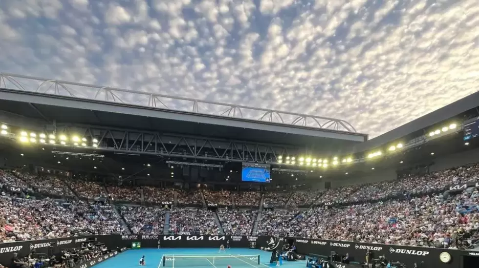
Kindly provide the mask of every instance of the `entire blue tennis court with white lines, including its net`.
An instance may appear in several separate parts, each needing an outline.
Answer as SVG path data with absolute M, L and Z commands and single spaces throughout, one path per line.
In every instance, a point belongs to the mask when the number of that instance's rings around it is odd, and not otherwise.
M 227 249 L 226 253 L 218 253 L 218 248 L 130 249 L 93 267 L 139 268 L 141 267 L 139 260 L 142 255 L 145 255 L 146 266 L 144 268 L 226 268 L 228 265 L 231 265 L 232 268 L 274 267 L 269 264 L 271 252 L 248 248 L 231 248 Z M 165 258 L 165 256 L 167 257 Z M 258 256 L 260 264 L 255 259 Z M 288 268 L 305 268 L 305 265 L 305 261 L 283 262 L 283 266 Z

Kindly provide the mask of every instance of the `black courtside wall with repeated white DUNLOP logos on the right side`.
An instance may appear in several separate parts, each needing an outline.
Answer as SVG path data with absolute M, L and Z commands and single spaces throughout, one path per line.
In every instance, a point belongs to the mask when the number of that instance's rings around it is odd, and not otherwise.
M 460 268 L 462 256 L 470 252 L 435 247 L 404 247 L 306 238 L 287 238 L 287 240 L 293 241 L 297 252 L 301 254 L 330 256 L 331 251 L 334 251 L 338 258 L 349 254 L 350 261 L 364 263 L 366 253 L 370 250 L 373 259 L 384 255 L 387 260 L 406 264 L 407 267 L 414 267 L 416 263 L 419 267 Z

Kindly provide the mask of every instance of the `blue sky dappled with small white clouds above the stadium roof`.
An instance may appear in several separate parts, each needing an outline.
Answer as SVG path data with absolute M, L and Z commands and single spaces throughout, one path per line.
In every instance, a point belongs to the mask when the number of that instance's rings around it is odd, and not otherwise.
M 0 72 L 334 117 L 370 137 L 475 92 L 478 42 L 477 0 L 0 0 Z

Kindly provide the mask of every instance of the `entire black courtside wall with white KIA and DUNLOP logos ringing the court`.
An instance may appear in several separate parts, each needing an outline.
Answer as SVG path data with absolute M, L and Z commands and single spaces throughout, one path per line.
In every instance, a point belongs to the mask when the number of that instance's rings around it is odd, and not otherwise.
M 0 263 L 9 266 L 13 253 L 18 253 L 20 257 L 28 255 L 31 250 L 36 253 L 45 254 L 49 257 L 51 254 L 59 254 L 62 249 L 81 247 L 82 243 L 95 241 L 96 243 L 105 243 L 110 249 L 110 253 L 96 258 L 93 262 L 87 262 L 78 268 L 89 268 L 99 261 L 104 261 L 113 257 L 114 252 L 124 251 L 133 245 L 141 248 L 219 248 L 220 245 L 226 245 L 226 241 L 232 248 L 259 248 L 263 250 L 273 250 L 281 242 L 294 243 L 297 252 L 300 254 L 318 254 L 329 256 L 331 251 L 338 255 L 349 254 L 350 260 L 355 262 L 364 262 L 366 251 L 370 249 L 373 252 L 373 258 L 385 255 L 388 260 L 400 261 L 413 267 L 417 263 L 421 267 L 434 268 L 463 268 L 463 256 L 474 256 L 479 258 L 477 251 L 451 250 L 430 247 L 403 247 L 383 244 L 366 244 L 344 241 L 317 240 L 307 238 L 272 238 L 269 236 L 210 236 L 210 235 L 99 235 L 70 237 L 62 239 L 21 241 L 14 243 L 0 244 Z M 273 241 L 274 243 L 272 243 Z M 451 260 L 444 263 L 440 260 L 441 254 L 449 254 Z

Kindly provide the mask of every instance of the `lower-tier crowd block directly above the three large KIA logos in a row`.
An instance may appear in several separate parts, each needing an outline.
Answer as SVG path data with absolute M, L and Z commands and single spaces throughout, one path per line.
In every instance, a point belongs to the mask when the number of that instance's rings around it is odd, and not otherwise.
M 217 235 L 220 229 L 211 210 L 200 208 L 172 208 L 170 233 L 185 235 Z

